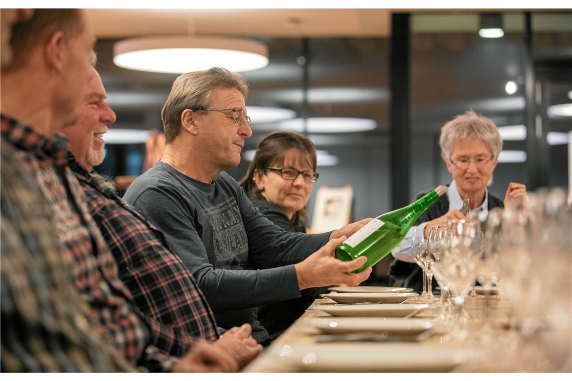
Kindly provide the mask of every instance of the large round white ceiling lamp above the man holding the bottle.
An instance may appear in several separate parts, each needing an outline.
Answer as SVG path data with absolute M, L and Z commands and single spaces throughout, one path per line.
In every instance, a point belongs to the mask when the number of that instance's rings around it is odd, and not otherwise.
M 263 43 L 218 37 L 141 37 L 113 44 L 113 62 L 120 67 L 154 73 L 188 73 L 220 66 L 249 71 L 268 65 Z

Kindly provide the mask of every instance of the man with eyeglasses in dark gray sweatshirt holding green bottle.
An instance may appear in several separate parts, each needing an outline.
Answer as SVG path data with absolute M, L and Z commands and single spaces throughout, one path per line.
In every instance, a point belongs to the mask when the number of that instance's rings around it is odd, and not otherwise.
M 248 85 L 215 67 L 180 75 L 161 112 L 165 152 L 124 198 L 150 220 L 193 273 L 223 328 L 249 323 L 268 344 L 257 306 L 331 284 L 358 285 L 371 268 L 341 262 L 335 247 L 370 219 L 319 235 L 285 232 L 252 205 L 225 170 L 240 163 L 252 136 Z

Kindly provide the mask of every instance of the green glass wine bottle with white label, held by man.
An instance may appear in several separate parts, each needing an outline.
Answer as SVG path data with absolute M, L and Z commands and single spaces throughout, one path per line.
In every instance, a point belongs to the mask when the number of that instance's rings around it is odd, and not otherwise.
M 374 266 L 398 246 L 415 220 L 446 192 L 447 187 L 440 185 L 414 203 L 374 218 L 336 247 L 336 258 L 353 260 L 366 256 L 367 262 L 354 272 Z

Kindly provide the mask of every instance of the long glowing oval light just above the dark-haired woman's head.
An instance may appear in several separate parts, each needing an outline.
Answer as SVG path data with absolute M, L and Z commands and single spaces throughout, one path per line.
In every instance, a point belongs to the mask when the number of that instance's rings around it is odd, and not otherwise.
M 306 132 L 312 134 L 356 133 L 358 131 L 374 130 L 377 123 L 365 118 L 308 118 Z M 304 119 L 297 118 L 278 123 L 279 129 L 304 130 Z

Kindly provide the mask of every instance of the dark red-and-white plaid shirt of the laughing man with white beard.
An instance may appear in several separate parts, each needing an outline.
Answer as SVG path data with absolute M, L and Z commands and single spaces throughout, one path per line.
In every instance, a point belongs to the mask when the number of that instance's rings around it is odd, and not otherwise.
M 80 181 L 89 211 L 137 307 L 176 328 L 181 336 L 216 340 L 215 316 L 190 271 L 169 250 L 162 233 L 122 198 L 105 191 L 100 185 L 104 178 L 92 177 L 71 153 L 68 165 Z

